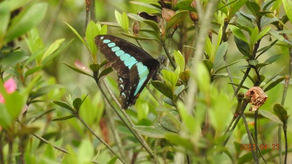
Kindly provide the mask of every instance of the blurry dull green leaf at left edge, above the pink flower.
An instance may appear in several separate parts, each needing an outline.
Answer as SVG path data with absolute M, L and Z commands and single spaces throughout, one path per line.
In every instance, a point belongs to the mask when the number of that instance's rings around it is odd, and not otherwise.
M 15 51 L 11 54 L 8 54 L 0 61 L 0 65 L 2 66 L 1 71 L 5 71 L 9 67 L 14 66 L 15 64 L 22 62 L 27 58 L 28 56 L 26 56 L 23 51 Z

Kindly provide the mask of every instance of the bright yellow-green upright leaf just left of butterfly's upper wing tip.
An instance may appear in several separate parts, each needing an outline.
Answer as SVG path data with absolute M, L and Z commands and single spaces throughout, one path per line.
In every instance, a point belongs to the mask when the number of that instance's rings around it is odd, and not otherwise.
M 91 50 L 90 52 L 93 58 L 94 56 L 96 56 L 96 53 L 97 53 L 97 47 L 94 43 L 94 37 L 97 35 L 100 35 L 99 29 L 97 25 L 91 20 L 86 28 L 85 37 L 86 37 L 86 42 Z

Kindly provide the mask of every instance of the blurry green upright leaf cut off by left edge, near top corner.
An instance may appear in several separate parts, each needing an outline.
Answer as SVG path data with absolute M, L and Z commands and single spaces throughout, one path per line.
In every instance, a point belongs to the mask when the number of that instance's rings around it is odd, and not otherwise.
M 10 19 L 10 12 L 9 9 L 5 6 L 0 5 L 0 47 L 2 47 L 2 39 L 4 37 L 4 34 L 7 30 L 8 23 Z

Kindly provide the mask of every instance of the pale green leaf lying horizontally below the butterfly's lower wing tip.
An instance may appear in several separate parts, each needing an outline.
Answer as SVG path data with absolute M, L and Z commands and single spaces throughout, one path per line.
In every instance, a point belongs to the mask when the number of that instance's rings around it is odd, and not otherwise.
M 134 126 L 133 129 L 142 135 L 145 135 L 147 137 L 152 137 L 152 138 L 164 138 L 164 134 L 166 132 L 169 132 L 159 126 L 158 127 Z

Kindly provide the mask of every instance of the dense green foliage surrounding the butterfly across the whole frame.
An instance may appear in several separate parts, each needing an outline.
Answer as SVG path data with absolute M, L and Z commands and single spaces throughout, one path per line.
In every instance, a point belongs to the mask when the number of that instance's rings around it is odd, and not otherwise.
M 207 28 L 209 37 L 205 34 L 202 43 L 204 58 L 200 58 L 195 44 L 195 40 L 200 40 L 199 29 L 204 28 L 202 20 L 196 21 L 199 10 L 191 5 L 192 0 L 178 0 L 181 7 L 176 8 L 173 5 L 176 0 L 161 1 L 177 15 L 173 22 L 164 20 L 164 26 L 157 27 L 158 23 L 153 25 L 136 15 L 144 11 L 162 18 L 162 11 L 157 8 L 159 3 L 152 0 L 95 0 L 94 3 L 91 0 L 94 7 L 91 6 L 86 27 L 83 0 L 0 1 L 0 93 L 5 98 L 5 103 L 0 104 L 0 164 L 291 163 L 290 84 L 284 98 L 285 109 L 280 104 L 285 79 L 292 67 L 289 65 L 292 2 L 218 1 L 212 11 L 212 16 L 215 14 L 211 26 Z M 216 0 L 196 1 L 207 12 L 208 4 Z M 12 13 L 15 10 L 20 14 Z M 262 18 L 264 25 L 260 29 L 256 26 L 258 18 Z M 224 19 L 229 22 L 226 33 Z M 140 38 L 132 33 L 135 20 L 140 22 Z M 178 29 L 173 29 L 178 22 Z M 91 42 L 97 34 L 141 44 L 155 58 L 171 52 L 177 69 L 165 62 L 161 71 L 165 83 L 152 81 L 134 107 L 120 110 L 111 96 L 119 96 L 116 74 L 106 68 L 104 55 Z M 221 42 L 224 35 L 226 42 Z M 258 40 L 256 50 L 264 53 L 257 53 L 257 58 L 253 50 Z M 231 64 L 228 69 L 232 76 L 226 71 L 227 64 Z M 240 95 L 233 98 L 229 77 L 237 88 L 248 68 L 251 71 L 239 94 L 244 97 L 242 92 L 259 86 L 268 99 L 256 112 L 249 113 L 248 105 L 244 119 L 227 133 L 228 124 L 236 119 L 233 117 L 236 109 L 240 109 L 237 107 L 247 104 L 247 99 L 239 100 Z M 257 76 L 255 68 L 261 68 L 258 70 L 261 76 Z M 96 78 L 102 73 L 107 76 Z M 10 77 L 17 82 L 18 90 L 7 94 L 3 83 Z M 195 96 L 189 96 L 192 91 L 196 91 Z M 19 114 L 25 104 L 27 111 Z M 249 138 L 251 133 L 256 136 L 259 148 L 260 144 L 268 148 L 279 144 L 281 152 L 263 148 L 257 152 L 240 150 L 240 144 L 255 144 Z

